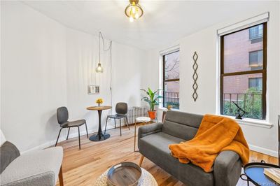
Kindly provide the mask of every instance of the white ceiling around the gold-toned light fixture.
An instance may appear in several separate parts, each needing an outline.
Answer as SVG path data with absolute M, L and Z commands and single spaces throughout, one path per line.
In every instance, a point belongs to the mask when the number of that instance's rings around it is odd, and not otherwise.
M 24 1 L 66 27 L 143 50 L 170 45 L 179 38 L 254 10 L 265 1 L 144 1 L 144 15 L 130 22 L 129 1 Z

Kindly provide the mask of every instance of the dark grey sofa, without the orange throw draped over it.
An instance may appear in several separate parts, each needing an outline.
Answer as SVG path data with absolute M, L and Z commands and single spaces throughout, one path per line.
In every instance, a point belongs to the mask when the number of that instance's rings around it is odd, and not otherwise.
M 221 152 L 214 162 L 214 171 L 210 173 L 191 163 L 181 164 L 170 154 L 168 145 L 193 138 L 202 117 L 203 115 L 167 111 L 163 124 L 139 127 L 139 152 L 186 185 L 236 185 L 241 173 L 241 159 L 236 152 Z

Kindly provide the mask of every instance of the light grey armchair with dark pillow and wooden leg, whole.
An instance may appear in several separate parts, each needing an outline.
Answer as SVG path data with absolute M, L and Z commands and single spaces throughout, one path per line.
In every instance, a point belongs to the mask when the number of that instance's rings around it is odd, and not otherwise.
M 0 185 L 50 186 L 56 185 L 59 178 L 59 185 L 63 186 L 62 147 L 32 150 L 20 155 L 13 143 L 5 138 L 3 141 Z

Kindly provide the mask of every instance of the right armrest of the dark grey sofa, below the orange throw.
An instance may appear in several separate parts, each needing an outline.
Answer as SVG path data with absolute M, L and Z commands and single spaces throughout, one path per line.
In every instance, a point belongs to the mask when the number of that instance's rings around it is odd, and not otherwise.
M 221 152 L 214 162 L 214 183 L 220 185 L 236 185 L 241 173 L 241 159 L 231 150 Z

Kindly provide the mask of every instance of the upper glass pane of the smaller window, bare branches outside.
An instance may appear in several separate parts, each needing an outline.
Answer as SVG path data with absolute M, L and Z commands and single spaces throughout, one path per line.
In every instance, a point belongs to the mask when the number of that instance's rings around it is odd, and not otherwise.
M 165 55 L 165 80 L 179 79 L 179 51 Z

